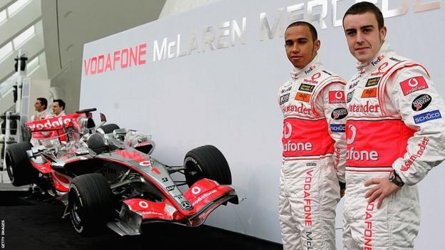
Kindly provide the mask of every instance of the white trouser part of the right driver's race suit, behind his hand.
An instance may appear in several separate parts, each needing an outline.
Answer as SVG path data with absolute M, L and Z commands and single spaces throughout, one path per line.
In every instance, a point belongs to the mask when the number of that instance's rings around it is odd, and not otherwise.
M 351 175 L 346 172 L 346 175 Z M 354 174 L 352 174 L 354 175 Z M 367 179 L 388 175 L 367 175 L 362 179 L 349 178 L 344 195 L 343 249 L 344 250 L 409 250 L 414 249 L 414 239 L 420 226 L 420 205 L 417 186 L 404 185 L 389 195 L 377 209 L 377 201 L 368 204 L 366 189 L 352 189 L 363 185 Z M 348 179 L 348 176 L 347 176 Z M 400 209 L 404 208 L 403 211 Z M 370 245 L 370 246 L 367 246 Z

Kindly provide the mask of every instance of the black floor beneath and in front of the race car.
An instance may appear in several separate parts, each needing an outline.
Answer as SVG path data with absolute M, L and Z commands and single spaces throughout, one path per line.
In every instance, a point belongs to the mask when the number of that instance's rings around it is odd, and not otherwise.
M 211 226 L 150 224 L 143 227 L 140 236 L 121 237 L 105 229 L 86 238 L 74 231 L 68 219 L 61 219 L 62 213 L 59 202 L 26 198 L 24 192 L 0 191 L 4 229 L 0 249 L 282 249 L 280 244 Z

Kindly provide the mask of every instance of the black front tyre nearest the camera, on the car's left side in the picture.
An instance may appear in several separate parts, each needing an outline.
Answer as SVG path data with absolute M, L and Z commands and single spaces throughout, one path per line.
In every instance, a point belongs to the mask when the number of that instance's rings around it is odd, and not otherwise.
M 93 236 L 113 219 L 114 199 L 103 175 L 74 177 L 69 187 L 68 212 L 74 229 L 82 236 Z

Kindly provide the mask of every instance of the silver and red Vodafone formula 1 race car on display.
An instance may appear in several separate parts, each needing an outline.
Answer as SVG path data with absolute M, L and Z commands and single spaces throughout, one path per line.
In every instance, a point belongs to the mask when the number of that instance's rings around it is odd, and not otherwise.
M 12 184 L 35 184 L 60 199 L 78 233 L 93 235 L 105 224 L 121 236 L 150 222 L 199 226 L 221 204 L 238 203 L 216 147 L 190 150 L 182 166 L 164 165 L 151 156 L 151 135 L 104 125 L 103 114 L 96 126 L 95 110 L 26 123 L 31 142 L 6 149 Z

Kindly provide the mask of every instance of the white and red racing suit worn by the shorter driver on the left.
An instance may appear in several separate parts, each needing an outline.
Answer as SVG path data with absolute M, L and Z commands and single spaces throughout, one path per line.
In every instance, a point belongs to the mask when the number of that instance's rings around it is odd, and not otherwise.
M 318 56 L 279 90 L 284 115 L 280 227 L 285 250 L 335 249 L 335 207 L 344 184 L 344 80 Z

